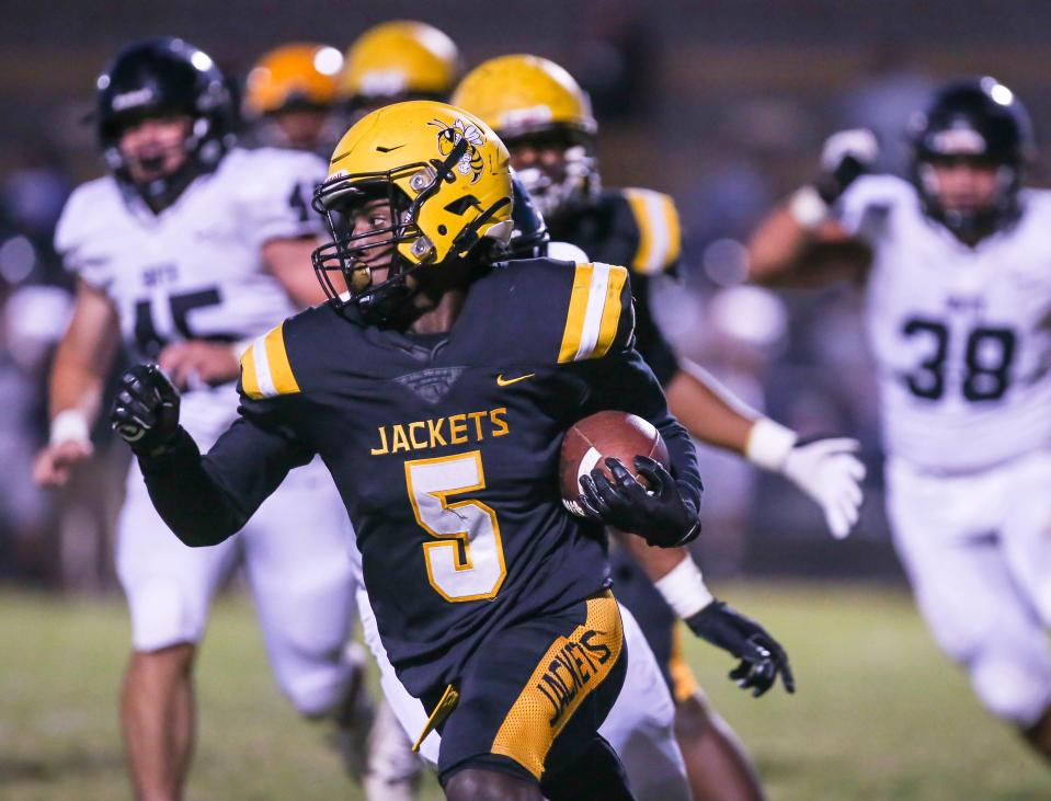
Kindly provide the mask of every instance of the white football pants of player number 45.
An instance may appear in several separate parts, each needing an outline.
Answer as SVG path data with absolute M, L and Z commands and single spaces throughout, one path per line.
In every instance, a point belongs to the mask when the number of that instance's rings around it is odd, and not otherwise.
M 353 670 L 343 659 L 354 616 L 345 520 L 332 478 L 315 459 L 293 470 L 239 534 L 190 548 L 153 510 L 133 461 L 116 558 L 134 649 L 198 642 L 212 596 L 240 559 L 277 684 L 302 714 L 328 712 Z

